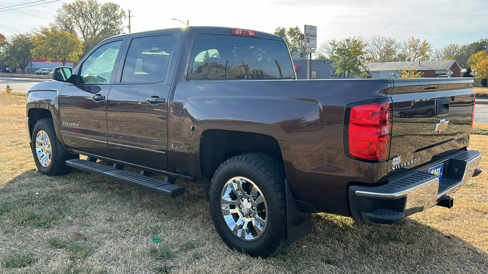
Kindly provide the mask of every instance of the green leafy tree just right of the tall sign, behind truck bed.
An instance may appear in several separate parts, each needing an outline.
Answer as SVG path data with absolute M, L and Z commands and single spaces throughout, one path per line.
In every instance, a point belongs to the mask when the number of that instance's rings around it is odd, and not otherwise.
M 366 43 L 356 37 L 341 40 L 331 40 L 332 66 L 337 68 L 335 75 L 349 75 L 367 77 Z

